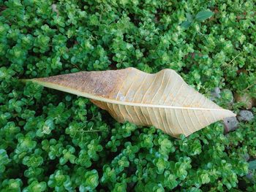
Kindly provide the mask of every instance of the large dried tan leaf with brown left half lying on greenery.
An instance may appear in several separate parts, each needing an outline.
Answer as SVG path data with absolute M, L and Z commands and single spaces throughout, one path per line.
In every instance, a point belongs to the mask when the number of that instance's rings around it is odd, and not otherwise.
M 85 96 L 119 122 L 155 126 L 173 137 L 188 136 L 217 120 L 236 116 L 189 87 L 172 69 L 156 74 L 135 68 L 78 72 L 31 81 Z

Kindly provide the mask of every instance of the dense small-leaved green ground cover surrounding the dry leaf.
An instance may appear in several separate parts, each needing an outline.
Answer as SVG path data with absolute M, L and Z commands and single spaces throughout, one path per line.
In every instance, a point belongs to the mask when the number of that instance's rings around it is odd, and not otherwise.
M 210 19 L 181 26 L 206 9 Z M 174 139 L 18 81 L 170 68 L 206 96 L 219 87 L 255 97 L 255 19 L 252 0 L 0 0 L 0 191 L 256 191 L 255 119 Z M 243 108 L 221 96 L 222 107 Z

